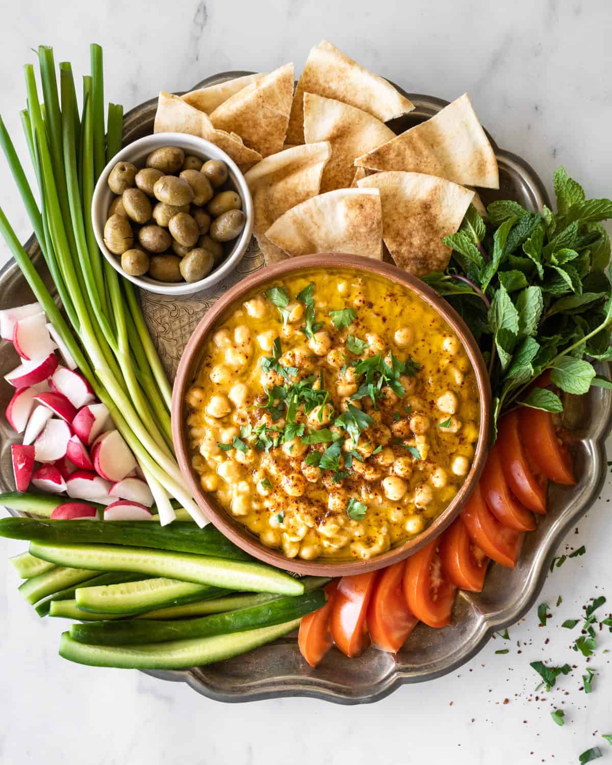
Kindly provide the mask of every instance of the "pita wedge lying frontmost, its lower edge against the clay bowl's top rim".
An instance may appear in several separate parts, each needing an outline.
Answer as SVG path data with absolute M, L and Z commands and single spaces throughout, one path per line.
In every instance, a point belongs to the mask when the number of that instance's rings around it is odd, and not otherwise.
M 265 232 L 288 256 L 347 252 L 382 259 L 378 189 L 337 189 L 291 207 Z

